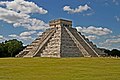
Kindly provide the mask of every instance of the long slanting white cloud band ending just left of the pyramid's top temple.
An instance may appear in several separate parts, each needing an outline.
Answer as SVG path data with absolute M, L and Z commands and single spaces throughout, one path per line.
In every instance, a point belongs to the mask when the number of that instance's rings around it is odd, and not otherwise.
M 42 20 L 30 18 L 29 15 L 17 13 L 15 11 L 7 10 L 0 7 L 0 20 L 13 24 L 14 27 L 23 26 L 28 30 L 45 30 L 49 27 Z

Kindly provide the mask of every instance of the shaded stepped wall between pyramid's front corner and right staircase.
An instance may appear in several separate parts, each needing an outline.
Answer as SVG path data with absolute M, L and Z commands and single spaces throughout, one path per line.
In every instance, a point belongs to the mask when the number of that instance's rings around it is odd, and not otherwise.
M 61 57 L 83 57 L 73 37 L 65 27 L 61 28 Z

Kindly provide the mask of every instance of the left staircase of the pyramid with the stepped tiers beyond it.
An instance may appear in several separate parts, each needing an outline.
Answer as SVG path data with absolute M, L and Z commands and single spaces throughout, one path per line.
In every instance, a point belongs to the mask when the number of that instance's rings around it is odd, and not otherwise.
M 35 39 L 30 45 L 28 45 L 23 51 L 21 51 L 16 57 L 34 57 L 38 51 L 44 47 L 44 44 L 52 36 L 55 29 L 48 29 L 41 36 Z M 40 56 L 40 55 L 39 55 Z

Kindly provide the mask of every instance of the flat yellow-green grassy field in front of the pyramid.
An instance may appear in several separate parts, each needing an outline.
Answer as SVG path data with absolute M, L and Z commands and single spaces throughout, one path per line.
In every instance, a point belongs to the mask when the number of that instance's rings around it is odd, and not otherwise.
M 1 58 L 0 80 L 120 80 L 120 58 Z

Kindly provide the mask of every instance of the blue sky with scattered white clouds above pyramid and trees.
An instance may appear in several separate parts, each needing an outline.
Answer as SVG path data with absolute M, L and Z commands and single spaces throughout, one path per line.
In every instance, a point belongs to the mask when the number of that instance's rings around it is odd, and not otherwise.
M 120 0 L 0 0 L 0 42 L 30 44 L 57 18 L 72 20 L 99 47 L 120 49 Z

